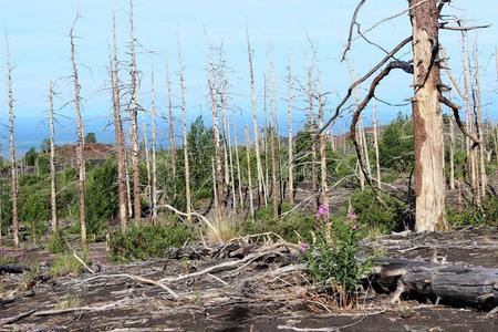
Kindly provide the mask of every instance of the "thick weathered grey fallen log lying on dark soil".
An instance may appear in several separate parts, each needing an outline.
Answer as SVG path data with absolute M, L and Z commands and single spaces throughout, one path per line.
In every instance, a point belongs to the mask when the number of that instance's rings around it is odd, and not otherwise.
M 387 258 L 375 269 L 372 286 L 394 290 L 392 303 L 407 297 L 483 310 L 498 305 L 498 269 Z

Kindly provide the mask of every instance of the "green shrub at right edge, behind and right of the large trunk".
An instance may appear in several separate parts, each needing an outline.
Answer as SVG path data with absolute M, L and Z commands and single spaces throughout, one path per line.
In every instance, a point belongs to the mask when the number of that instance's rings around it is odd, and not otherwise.
M 498 197 L 487 196 L 480 208 L 468 204 L 461 212 L 448 209 L 448 221 L 454 226 L 498 226 Z

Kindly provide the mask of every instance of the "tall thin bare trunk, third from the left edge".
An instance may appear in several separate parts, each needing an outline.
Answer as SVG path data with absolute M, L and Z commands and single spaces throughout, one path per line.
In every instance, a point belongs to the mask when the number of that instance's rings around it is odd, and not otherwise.
M 75 60 L 75 44 L 74 44 L 74 25 L 76 24 L 76 19 L 71 27 L 70 38 L 71 38 L 71 63 L 73 66 L 73 84 L 74 84 L 74 108 L 76 110 L 77 118 L 77 168 L 80 173 L 79 177 L 79 193 L 80 193 L 80 230 L 81 230 L 81 242 L 83 247 L 86 247 L 86 206 L 85 206 L 85 160 L 83 158 L 84 144 L 83 138 L 83 117 L 81 112 L 81 86 L 77 74 L 77 66 Z

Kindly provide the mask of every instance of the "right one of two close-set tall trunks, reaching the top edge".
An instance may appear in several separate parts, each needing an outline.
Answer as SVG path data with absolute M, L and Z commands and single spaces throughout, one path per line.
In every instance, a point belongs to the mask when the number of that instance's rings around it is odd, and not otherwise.
M 133 0 L 129 0 L 129 75 L 131 75 L 131 101 L 129 111 L 132 117 L 132 172 L 133 172 L 133 211 L 135 225 L 138 225 L 142 218 L 141 204 L 141 172 L 139 172 L 139 147 L 138 147 L 138 105 L 136 102 L 137 73 L 136 73 L 136 53 L 135 35 L 133 25 Z

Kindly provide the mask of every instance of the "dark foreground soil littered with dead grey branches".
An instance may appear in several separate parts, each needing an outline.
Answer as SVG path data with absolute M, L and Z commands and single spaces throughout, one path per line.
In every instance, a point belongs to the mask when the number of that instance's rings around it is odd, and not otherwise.
M 498 262 L 497 229 L 489 228 L 394 235 L 365 246 L 382 248 L 390 257 L 437 257 L 439 260 L 446 257 L 452 263 L 488 268 L 497 268 Z M 90 251 L 91 259 L 100 262 L 91 266 L 100 270 L 95 274 L 85 272 L 54 280 L 44 278 L 42 268 L 31 289 L 19 288 L 23 274 L 0 276 L 0 299 L 3 298 L 0 319 L 31 310 L 80 308 L 43 317 L 32 314 L 0 326 L 0 331 L 498 331 L 498 314 L 485 318 L 486 312 L 475 309 L 417 301 L 391 305 L 388 295 L 361 294 L 357 305 L 349 311 L 318 304 L 319 299 L 307 291 L 301 272 L 260 278 L 268 271 L 299 262 L 299 255 L 287 250 L 255 260 L 238 272 L 234 269 L 214 271 L 214 277 L 204 274 L 165 282 L 179 294 L 178 300 L 156 286 L 124 277 L 103 277 L 129 273 L 159 280 L 237 259 L 229 257 L 229 253 L 237 256 L 237 246 L 224 250 L 226 255 L 218 257 L 195 258 L 193 250 L 185 249 L 172 255 L 175 259 L 115 266 L 106 263 L 105 247 L 98 243 Z M 21 261 L 51 261 L 46 252 L 19 256 Z M 6 294 L 14 289 L 18 290 L 10 297 L 10 302 L 6 301 L 9 298 Z M 103 305 L 107 307 L 103 309 Z M 95 311 L 95 308 L 101 310 Z

